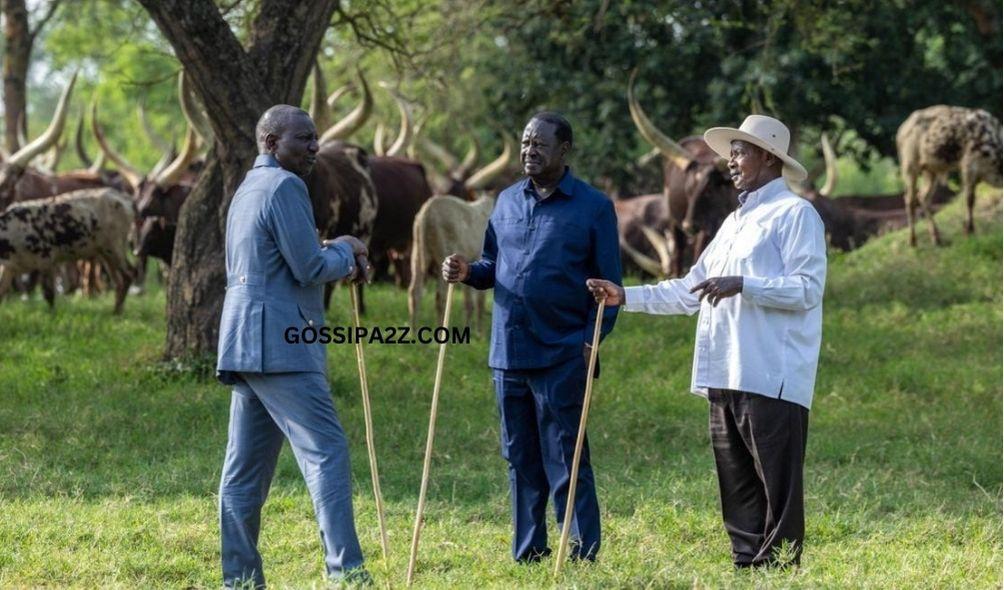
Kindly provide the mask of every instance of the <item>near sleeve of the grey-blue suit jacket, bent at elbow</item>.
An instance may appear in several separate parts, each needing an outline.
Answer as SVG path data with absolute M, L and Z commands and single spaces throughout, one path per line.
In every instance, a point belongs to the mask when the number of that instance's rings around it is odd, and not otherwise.
M 347 244 L 321 248 L 303 181 L 282 180 L 264 211 L 272 239 L 301 286 L 335 281 L 353 272 L 354 257 Z

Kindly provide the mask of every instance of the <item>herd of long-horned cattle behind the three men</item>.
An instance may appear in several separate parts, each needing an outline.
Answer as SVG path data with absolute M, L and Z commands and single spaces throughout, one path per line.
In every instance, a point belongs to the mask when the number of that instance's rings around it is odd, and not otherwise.
M 75 76 L 66 85 L 46 130 L 3 154 L 0 164 L 0 296 L 19 279 L 34 277 L 53 305 L 57 283 L 63 290 L 86 287 L 106 277 L 114 286 L 114 311 L 119 312 L 131 284 L 142 287 L 149 257 L 170 269 L 175 233 L 186 198 L 203 168 L 200 156 L 213 141 L 208 119 L 188 88 L 184 74 L 179 100 L 187 119 L 183 145 L 147 131 L 163 151 L 160 162 L 142 173 L 107 140 L 97 105 L 90 108 L 90 128 L 100 154 L 93 161 L 83 149 L 82 120 L 77 125 L 76 151 L 86 170 L 56 174 L 59 137 Z M 383 85 L 383 84 L 382 84 Z M 463 159 L 454 157 L 421 134 L 412 105 L 391 87 L 401 114 L 397 136 L 376 126 L 372 154 L 351 143 L 371 118 L 373 97 L 361 72 L 357 84 L 330 95 L 315 68 L 310 98 L 311 116 L 318 124 L 320 151 L 305 179 L 319 238 L 342 234 L 369 245 L 378 280 L 393 279 L 409 289 L 413 325 L 420 313 L 424 279 L 437 273 L 439 262 L 459 252 L 476 258 L 497 189 L 515 179 L 512 142 L 503 135 L 502 154 L 478 169 L 480 150 L 472 140 Z M 341 96 L 358 95 L 358 104 L 332 121 L 332 105 Z M 646 114 L 635 88 L 628 84 L 628 105 L 638 130 L 662 161 L 660 193 L 617 199 L 614 203 L 625 267 L 656 277 L 680 276 L 710 243 L 725 217 L 738 203 L 725 162 L 700 137 L 679 142 L 663 132 Z M 149 129 L 141 109 L 144 128 Z M 974 188 L 980 182 L 1001 185 L 1000 122 L 984 110 L 932 106 L 914 112 L 897 134 L 906 194 L 832 198 L 836 185 L 835 156 L 822 136 L 825 167 L 798 187 L 822 218 L 830 244 L 841 250 L 859 246 L 891 228 L 909 226 L 916 245 L 915 210 L 929 220 L 934 242 L 940 235 L 932 213 L 952 198 L 945 177 L 958 170 L 967 205 L 966 231 L 973 231 Z M 421 160 L 424 159 L 424 160 Z M 433 166 L 436 162 L 438 166 Z M 105 169 L 105 165 L 114 170 Z M 442 167 L 442 172 L 437 170 Z M 821 189 L 815 177 L 826 175 Z M 927 188 L 918 191 L 924 178 Z M 132 244 L 138 265 L 127 257 Z M 58 280 L 57 280 L 58 277 Z M 439 284 L 439 281 L 437 281 Z M 134 287 L 137 288 L 137 287 Z M 437 292 L 437 300 L 441 293 Z M 478 321 L 483 307 L 477 298 Z M 468 318 L 472 313 L 468 298 Z

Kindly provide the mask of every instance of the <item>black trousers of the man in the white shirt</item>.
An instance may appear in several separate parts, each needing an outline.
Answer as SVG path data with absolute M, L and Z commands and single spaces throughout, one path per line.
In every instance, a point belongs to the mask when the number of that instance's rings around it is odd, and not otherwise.
M 731 389 L 710 389 L 711 442 L 732 561 L 797 564 L 805 538 L 802 465 L 809 410 Z M 781 551 L 782 545 L 790 547 Z

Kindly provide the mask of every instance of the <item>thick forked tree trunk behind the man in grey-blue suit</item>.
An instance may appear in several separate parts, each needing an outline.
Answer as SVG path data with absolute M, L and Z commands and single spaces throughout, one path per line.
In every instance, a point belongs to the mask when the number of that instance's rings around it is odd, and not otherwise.
M 168 284 L 166 356 L 215 354 L 226 287 L 226 213 L 272 104 L 299 104 L 337 0 L 262 0 L 245 50 L 212 0 L 140 0 L 206 104 L 216 141 L 186 200 Z

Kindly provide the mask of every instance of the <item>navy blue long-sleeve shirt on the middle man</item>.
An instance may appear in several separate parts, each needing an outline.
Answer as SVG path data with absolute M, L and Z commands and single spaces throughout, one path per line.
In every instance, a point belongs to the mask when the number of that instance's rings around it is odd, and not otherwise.
M 620 284 L 620 250 L 613 204 L 568 169 L 540 199 L 530 179 L 499 194 L 488 221 L 481 260 L 465 283 L 495 289 L 488 364 L 542 368 L 582 354 L 591 342 L 596 303 L 585 280 Z M 617 307 L 603 312 L 601 333 L 613 329 Z

